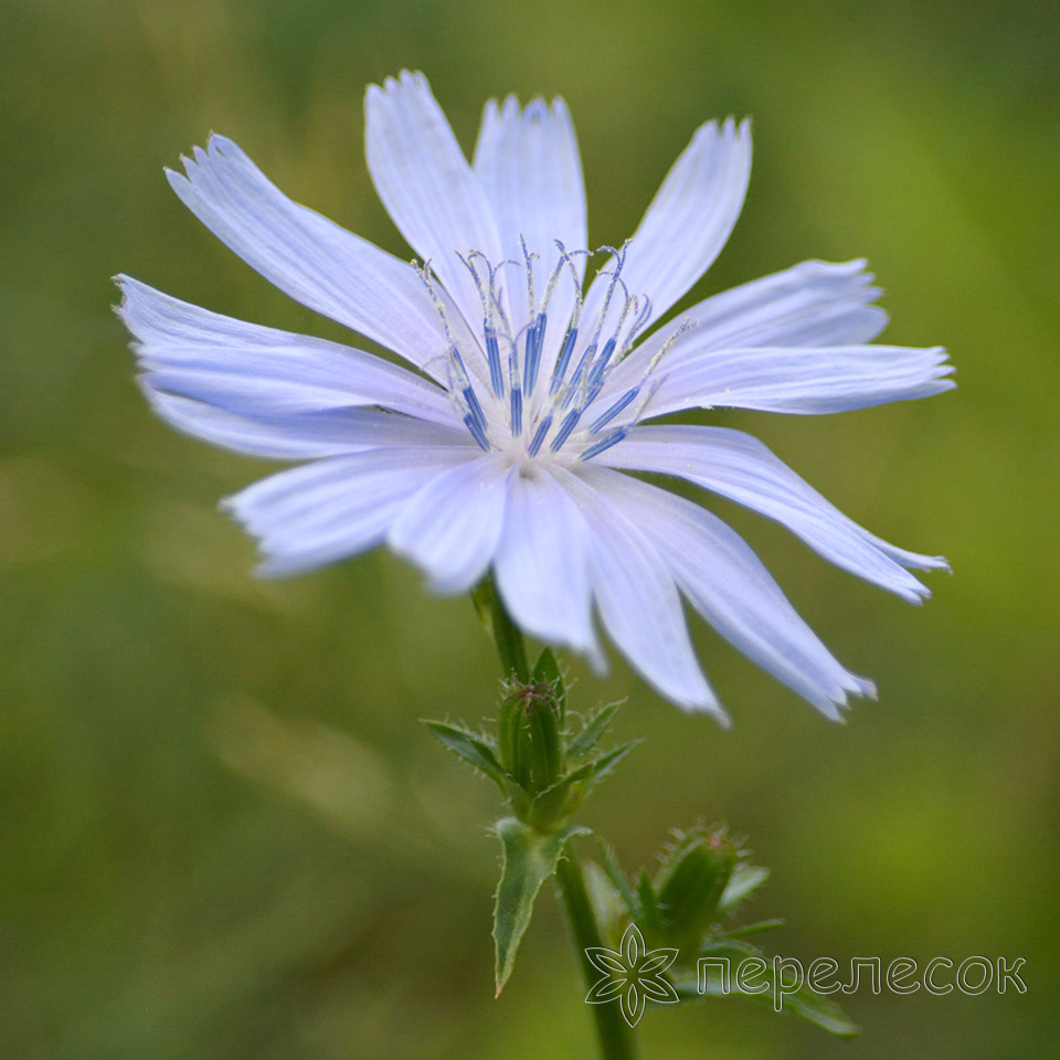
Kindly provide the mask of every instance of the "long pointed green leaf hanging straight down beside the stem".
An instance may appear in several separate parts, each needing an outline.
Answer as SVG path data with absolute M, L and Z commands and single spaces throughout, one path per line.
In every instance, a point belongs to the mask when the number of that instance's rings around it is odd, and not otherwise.
M 511 975 L 516 951 L 530 924 L 533 901 L 541 884 L 555 871 L 563 844 L 571 836 L 589 835 L 591 829 L 574 825 L 543 835 L 515 817 L 498 820 L 495 828 L 504 847 L 504 863 L 494 908 L 497 993 L 500 994 Z

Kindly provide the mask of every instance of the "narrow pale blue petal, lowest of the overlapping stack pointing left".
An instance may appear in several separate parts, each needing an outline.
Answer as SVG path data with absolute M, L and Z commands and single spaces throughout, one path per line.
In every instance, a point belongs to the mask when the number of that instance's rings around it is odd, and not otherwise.
M 314 459 L 381 447 L 478 446 L 464 430 L 375 409 L 328 409 L 250 418 L 144 384 L 151 407 L 171 426 L 236 453 L 278 460 Z

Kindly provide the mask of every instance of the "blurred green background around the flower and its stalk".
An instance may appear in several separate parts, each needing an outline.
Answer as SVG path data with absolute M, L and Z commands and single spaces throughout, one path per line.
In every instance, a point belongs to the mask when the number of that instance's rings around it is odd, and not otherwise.
M 492 998 L 496 812 L 417 724 L 489 712 L 466 600 L 388 554 L 289 582 L 215 511 L 265 464 L 178 436 L 132 382 L 109 277 L 339 329 L 181 206 L 215 128 L 296 199 L 407 255 L 368 180 L 364 85 L 566 97 L 592 240 L 632 232 L 692 129 L 750 114 L 744 218 L 695 297 L 865 255 L 889 341 L 960 389 L 752 430 L 845 511 L 945 552 L 923 608 L 721 504 L 879 703 L 831 725 L 696 623 L 731 709 L 682 717 L 617 658 L 647 742 L 586 808 L 630 868 L 727 818 L 785 955 L 1027 958 L 1029 989 L 846 999 L 836 1041 L 740 1000 L 649 1014 L 647 1058 L 1060 1056 L 1060 17 L 1041 2 L 3 0 L 0 3 L 0 1056 L 589 1057 L 544 894 Z M 690 303 L 691 297 L 686 300 Z

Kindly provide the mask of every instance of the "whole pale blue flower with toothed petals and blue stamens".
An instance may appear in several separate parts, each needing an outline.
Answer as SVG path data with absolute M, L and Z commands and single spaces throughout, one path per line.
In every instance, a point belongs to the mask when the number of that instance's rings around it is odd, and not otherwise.
M 928 590 L 907 568 L 945 565 L 862 530 L 748 434 L 646 423 L 717 406 L 842 412 L 953 385 L 937 348 L 866 344 L 887 316 L 871 305 L 879 292 L 863 262 L 803 262 L 649 330 L 735 224 L 748 124 L 697 130 L 583 297 L 585 195 L 562 99 L 488 103 L 471 165 L 421 74 L 371 86 L 365 114 L 372 180 L 422 265 L 287 199 L 223 137 L 169 180 L 263 276 L 411 369 L 119 277 L 120 314 L 162 417 L 231 449 L 309 462 L 226 501 L 258 540 L 262 571 L 383 543 L 443 593 L 492 569 L 528 633 L 602 665 L 595 611 L 647 681 L 723 719 L 683 594 L 829 718 L 849 695 L 873 695 L 729 527 L 623 474 L 676 476 L 754 508 L 912 602 Z

